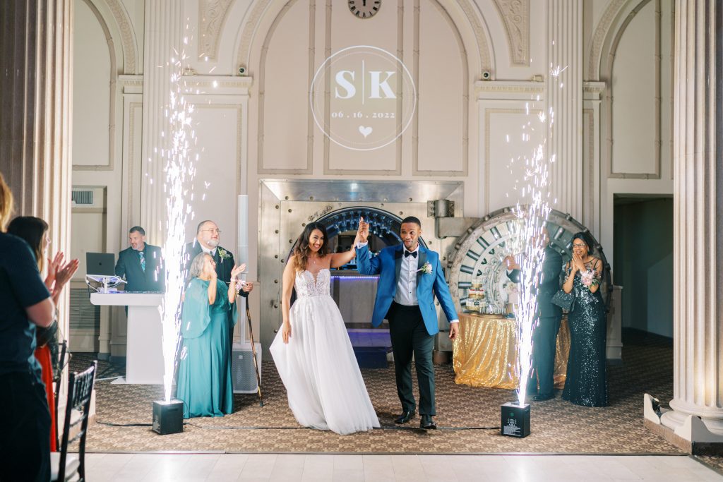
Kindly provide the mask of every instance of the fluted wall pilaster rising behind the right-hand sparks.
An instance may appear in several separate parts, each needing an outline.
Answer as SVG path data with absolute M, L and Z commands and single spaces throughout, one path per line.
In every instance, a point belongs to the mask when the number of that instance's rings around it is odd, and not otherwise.
M 550 168 L 550 190 L 557 198 L 555 209 L 569 212 L 580 221 L 583 219 L 582 20 L 582 0 L 548 0 L 547 113 L 552 109 L 555 118 L 547 152 L 556 158 Z M 553 77 L 550 71 L 558 67 L 562 73 Z

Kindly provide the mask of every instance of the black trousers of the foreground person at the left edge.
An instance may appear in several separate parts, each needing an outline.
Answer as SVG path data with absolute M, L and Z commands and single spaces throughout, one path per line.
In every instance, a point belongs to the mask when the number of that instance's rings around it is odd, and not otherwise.
M 30 373 L 0 375 L 0 482 L 50 480 L 50 412 Z

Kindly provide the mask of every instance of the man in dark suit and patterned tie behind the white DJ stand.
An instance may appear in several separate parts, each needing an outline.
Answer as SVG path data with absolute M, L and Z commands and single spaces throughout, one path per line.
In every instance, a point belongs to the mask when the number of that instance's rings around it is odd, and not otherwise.
M 145 243 L 145 230 L 133 226 L 131 246 L 118 254 L 116 276 L 125 277 L 126 291 L 166 291 L 166 272 L 161 248 Z

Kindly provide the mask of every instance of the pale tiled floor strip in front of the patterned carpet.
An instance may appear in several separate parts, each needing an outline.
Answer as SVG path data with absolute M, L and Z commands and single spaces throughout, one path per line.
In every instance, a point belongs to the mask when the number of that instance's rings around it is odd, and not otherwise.
M 100 481 L 723 481 L 671 455 L 87 454 Z

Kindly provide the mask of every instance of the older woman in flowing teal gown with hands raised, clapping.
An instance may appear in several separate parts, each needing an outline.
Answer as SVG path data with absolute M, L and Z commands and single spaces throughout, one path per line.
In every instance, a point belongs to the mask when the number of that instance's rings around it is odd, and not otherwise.
M 206 253 L 194 258 L 181 311 L 181 361 L 176 397 L 183 400 L 183 417 L 223 417 L 234 411 L 231 385 L 231 332 L 236 324 L 236 277 L 231 283 L 216 277 L 215 262 Z

